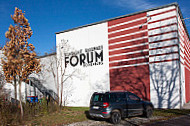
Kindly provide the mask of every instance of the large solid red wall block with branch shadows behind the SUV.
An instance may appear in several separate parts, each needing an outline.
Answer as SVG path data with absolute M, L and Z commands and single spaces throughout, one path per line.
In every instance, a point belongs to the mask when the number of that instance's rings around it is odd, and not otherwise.
M 150 100 L 149 65 L 110 69 L 110 90 L 127 90 Z

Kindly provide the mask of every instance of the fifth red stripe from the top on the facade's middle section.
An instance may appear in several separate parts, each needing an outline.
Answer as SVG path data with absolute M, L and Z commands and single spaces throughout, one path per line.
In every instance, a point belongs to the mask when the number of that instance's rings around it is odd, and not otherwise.
M 135 41 L 131 41 L 131 42 L 126 42 L 126 43 L 120 43 L 120 44 L 116 44 L 116 45 L 110 45 L 109 49 L 111 50 L 111 49 L 115 49 L 115 48 L 138 45 L 138 44 L 142 44 L 142 43 L 146 43 L 146 42 L 148 42 L 148 38 L 144 38 L 141 40 L 135 40 Z

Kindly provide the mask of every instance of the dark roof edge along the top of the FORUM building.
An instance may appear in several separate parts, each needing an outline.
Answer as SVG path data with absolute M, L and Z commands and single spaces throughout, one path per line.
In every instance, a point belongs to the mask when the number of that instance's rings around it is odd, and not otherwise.
M 136 14 L 140 14 L 140 13 L 144 13 L 144 12 L 152 11 L 152 10 L 157 10 L 157 9 L 161 9 L 161 8 L 165 8 L 165 7 L 169 7 L 169 6 L 177 6 L 179 8 L 178 3 L 174 2 L 174 3 L 167 4 L 167 5 L 163 5 L 163 6 L 159 6 L 159 7 L 155 7 L 155 8 L 151 8 L 151 9 L 147 9 L 147 10 L 143 10 L 143 11 L 138 11 L 138 12 L 135 12 L 135 13 L 130 13 L 130 14 L 126 14 L 126 15 L 122 15 L 122 16 L 106 19 L 106 20 L 103 20 L 103 21 L 99 21 L 99 22 L 95 22 L 95 23 L 91 23 L 91 24 L 86 24 L 86 25 L 82 25 L 82 26 L 71 28 L 71 29 L 67 29 L 67 30 L 63 30 L 63 31 L 60 31 L 60 32 L 56 32 L 55 34 L 69 32 L 69 31 L 73 31 L 73 30 L 76 30 L 76 29 L 79 29 L 79 28 L 88 27 L 88 26 L 92 26 L 92 25 L 96 25 L 96 24 L 101 24 L 101 23 L 108 22 L 108 21 L 111 21 L 111 20 L 115 20 L 115 19 L 119 19 L 119 18 L 124 18 L 124 17 L 128 17 L 128 16 L 131 16 L 131 15 L 136 15 Z

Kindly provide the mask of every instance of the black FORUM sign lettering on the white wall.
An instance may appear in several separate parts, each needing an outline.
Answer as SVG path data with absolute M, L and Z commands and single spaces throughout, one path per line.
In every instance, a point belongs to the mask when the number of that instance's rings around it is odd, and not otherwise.
M 65 67 L 103 65 L 103 45 L 65 53 Z

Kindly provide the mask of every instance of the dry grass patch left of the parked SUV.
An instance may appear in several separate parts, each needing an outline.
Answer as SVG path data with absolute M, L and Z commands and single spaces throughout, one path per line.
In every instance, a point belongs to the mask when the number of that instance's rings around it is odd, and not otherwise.
M 31 118 L 30 120 L 25 121 L 24 124 L 54 126 L 73 122 L 81 122 L 87 120 L 85 111 L 88 109 L 89 108 L 87 107 L 65 107 L 60 112 L 54 112 L 45 116 Z

